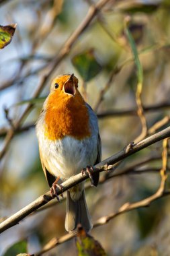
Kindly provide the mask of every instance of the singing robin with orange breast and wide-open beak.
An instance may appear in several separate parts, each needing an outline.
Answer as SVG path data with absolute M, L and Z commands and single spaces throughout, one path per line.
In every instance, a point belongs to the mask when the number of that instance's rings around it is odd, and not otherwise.
M 57 198 L 56 187 L 79 172 L 87 170 L 93 186 L 99 182 L 99 172 L 93 173 L 93 165 L 101 162 L 97 116 L 78 85 L 74 74 L 55 77 L 36 122 L 42 169 L 52 196 Z M 70 233 L 76 232 L 77 224 L 86 232 L 93 228 L 84 183 L 67 191 L 65 229 Z

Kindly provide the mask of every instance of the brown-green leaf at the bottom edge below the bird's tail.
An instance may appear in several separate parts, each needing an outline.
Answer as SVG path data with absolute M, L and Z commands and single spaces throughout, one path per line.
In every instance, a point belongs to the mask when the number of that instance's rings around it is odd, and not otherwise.
M 78 256 L 106 256 L 104 249 L 93 236 L 79 226 L 76 240 Z

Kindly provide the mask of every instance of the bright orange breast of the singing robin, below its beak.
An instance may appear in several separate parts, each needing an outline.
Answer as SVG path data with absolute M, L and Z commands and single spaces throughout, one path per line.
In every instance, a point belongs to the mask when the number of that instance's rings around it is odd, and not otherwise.
M 62 139 L 66 135 L 84 139 L 91 135 L 89 113 L 79 92 L 75 97 L 48 96 L 45 115 L 45 135 L 50 140 Z

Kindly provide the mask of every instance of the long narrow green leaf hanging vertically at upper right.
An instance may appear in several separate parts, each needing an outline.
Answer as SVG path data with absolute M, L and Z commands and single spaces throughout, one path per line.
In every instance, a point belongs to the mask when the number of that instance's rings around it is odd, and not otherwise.
M 130 33 L 128 26 L 126 26 L 126 28 L 125 28 L 125 34 L 128 38 L 130 47 L 132 49 L 132 53 L 134 55 L 134 63 L 136 64 L 136 68 L 137 68 L 138 83 L 142 84 L 143 83 L 143 69 L 142 69 L 142 65 L 140 64 L 140 60 L 138 58 L 138 51 L 136 49 L 136 44 L 134 42 L 134 38 L 132 37 L 132 34 Z

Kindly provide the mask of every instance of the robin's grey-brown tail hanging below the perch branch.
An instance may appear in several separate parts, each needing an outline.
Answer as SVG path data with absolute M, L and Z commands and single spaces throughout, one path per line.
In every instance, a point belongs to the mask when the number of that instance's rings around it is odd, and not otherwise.
M 68 232 L 76 232 L 77 224 L 81 224 L 86 232 L 89 232 L 93 225 L 91 224 L 91 218 L 87 203 L 85 200 L 85 190 L 83 189 L 81 197 L 74 201 L 71 199 L 70 192 L 67 191 L 67 210 L 65 218 L 65 229 Z

